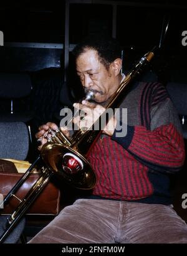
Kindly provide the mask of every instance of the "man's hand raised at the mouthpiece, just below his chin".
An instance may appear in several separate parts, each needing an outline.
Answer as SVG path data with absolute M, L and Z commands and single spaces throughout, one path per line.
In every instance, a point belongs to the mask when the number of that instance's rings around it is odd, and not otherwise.
M 79 128 L 87 127 L 90 128 L 93 123 L 98 119 L 100 115 L 105 111 L 103 106 L 90 103 L 89 101 L 83 100 L 82 104 L 74 103 L 74 107 L 81 110 L 80 116 L 74 118 L 74 123 L 79 126 Z M 112 136 L 117 125 L 117 120 L 113 116 L 108 121 L 107 125 L 103 129 L 103 133 L 106 135 Z

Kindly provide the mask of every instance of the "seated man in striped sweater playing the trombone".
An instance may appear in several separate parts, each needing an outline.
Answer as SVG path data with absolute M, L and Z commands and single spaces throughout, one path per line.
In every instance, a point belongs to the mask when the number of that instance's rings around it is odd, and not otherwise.
M 74 54 L 82 86 L 95 95 L 95 103 L 74 105 L 87 113 L 74 120 L 82 126 L 102 113 L 124 75 L 115 40 L 85 41 Z M 127 135 L 117 136 L 123 120 L 114 116 L 88 156 L 97 175 L 92 196 L 65 207 L 30 243 L 187 242 L 187 225 L 176 215 L 170 197 L 170 175 L 185 159 L 176 110 L 159 83 L 134 83 L 120 108 L 127 108 Z M 49 128 L 57 126 L 47 123 L 36 134 L 42 145 Z

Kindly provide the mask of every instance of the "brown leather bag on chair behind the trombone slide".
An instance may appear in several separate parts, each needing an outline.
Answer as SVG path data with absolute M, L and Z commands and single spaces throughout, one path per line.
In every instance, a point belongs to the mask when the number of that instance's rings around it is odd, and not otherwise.
M 0 173 L 0 193 L 5 197 L 17 181 L 24 175 L 24 173 Z M 31 174 L 26 182 L 22 184 L 21 188 L 16 192 L 16 197 L 22 199 L 30 190 L 32 185 L 36 182 L 40 175 Z M 16 198 L 11 198 L 7 205 L 1 209 L 3 214 L 11 214 L 15 207 L 19 204 Z M 27 214 L 37 215 L 57 215 L 59 213 L 60 205 L 60 190 L 54 184 L 49 182 L 40 195 L 32 203 L 31 207 L 27 210 Z

